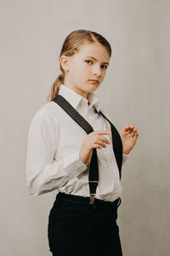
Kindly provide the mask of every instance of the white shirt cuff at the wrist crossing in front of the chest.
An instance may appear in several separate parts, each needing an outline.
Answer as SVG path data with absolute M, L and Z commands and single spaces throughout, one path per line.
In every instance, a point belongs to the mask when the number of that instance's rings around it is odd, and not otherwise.
M 77 174 L 85 171 L 87 167 L 88 164 L 84 164 L 79 158 L 79 150 L 63 158 L 63 168 L 70 177 L 77 176 Z

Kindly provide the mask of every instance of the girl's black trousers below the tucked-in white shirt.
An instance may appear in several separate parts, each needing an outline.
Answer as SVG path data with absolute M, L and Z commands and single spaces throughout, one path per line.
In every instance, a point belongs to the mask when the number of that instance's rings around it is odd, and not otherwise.
M 109 202 L 89 197 L 56 196 L 48 216 L 48 244 L 53 256 L 122 256 L 116 224 L 120 199 Z

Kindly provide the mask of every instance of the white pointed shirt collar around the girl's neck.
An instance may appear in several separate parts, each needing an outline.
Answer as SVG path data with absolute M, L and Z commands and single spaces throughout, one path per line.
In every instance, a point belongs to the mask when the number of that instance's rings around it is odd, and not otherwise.
M 72 105 L 72 107 L 76 108 L 79 104 L 86 104 L 88 107 L 88 102 L 91 106 L 99 112 L 100 110 L 100 102 L 99 98 L 95 96 L 93 92 L 88 93 L 88 99 L 79 95 L 75 90 L 65 86 L 65 84 L 60 84 L 59 87 L 59 95 L 64 96 L 65 99 Z M 82 103 L 83 102 L 83 103 Z

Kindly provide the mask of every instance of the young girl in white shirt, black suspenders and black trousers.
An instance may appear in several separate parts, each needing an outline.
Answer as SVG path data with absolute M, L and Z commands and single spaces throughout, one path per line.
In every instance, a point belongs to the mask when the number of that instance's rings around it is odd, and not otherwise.
M 71 32 L 59 55 L 62 73 L 31 121 L 26 183 L 34 196 L 57 192 L 48 216 L 53 256 L 122 255 L 121 169 L 139 134 L 134 125 L 116 131 L 94 94 L 110 59 L 102 35 Z

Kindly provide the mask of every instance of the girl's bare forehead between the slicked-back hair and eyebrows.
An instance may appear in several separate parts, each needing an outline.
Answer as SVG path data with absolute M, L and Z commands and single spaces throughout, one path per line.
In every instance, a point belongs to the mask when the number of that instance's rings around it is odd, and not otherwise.
M 98 43 L 93 44 L 82 44 L 79 47 L 77 55 L 81 57 L 92 56 L 98 61 L 110 61 L 110 55 L 108 54 L 105 47 Z

